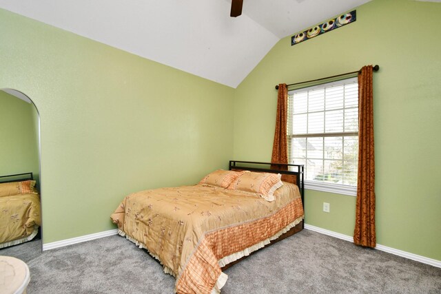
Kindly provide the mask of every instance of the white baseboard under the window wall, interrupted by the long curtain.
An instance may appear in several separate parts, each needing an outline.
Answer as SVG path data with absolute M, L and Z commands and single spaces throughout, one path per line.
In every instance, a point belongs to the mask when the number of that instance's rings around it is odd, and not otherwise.
M 305 229 L 307 230 L 311 230 L 311 231 L 316 231 L 317 233 L 322 233 L 325 235 L 330 235 L 331 237 L 335 237 L 338 239 L 342 239 L 345 241 L 349 241 L 349 242 L 353 242 L 353 237 L 349 236 L 349 235 L 344 235 L 341 233 L 336 233 L 334 231 L 329 231 L 327 229 L 322 229 L 319 227 L 315 227 L 315 226 L 311 226 L 311 224 L 305 224 Z M 417 262 L 422 262 L 423 264 L 430 264 L 431 266 L 436 266 L 441 268 L 441 261 L 440 260 L 433 260 L 431 258 L 426 258 L 424 256 L 421 255 L 416 255 L 413 253 L 409 253 L 406 251 L 402 251 L 402 250 L 398 250 L 398 249 L 394 249 L 388 246 L 384 246 L 384 245 L 380 245 L 377 244 L 377 246 L 375 247 L 375 249 L 380 250 L 380 251 L 384 251 L 387 253 L 391 253 L 393 255 L 398 255 L 401 256 L 402 258 L 408 258 L 409 260 L 415 260 Z

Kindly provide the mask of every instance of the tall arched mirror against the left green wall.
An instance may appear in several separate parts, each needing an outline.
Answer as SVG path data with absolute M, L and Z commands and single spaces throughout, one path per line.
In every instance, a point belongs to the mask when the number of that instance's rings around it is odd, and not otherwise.
M 0 255 L 41 253 L 39 120 L 28 96 L 0 90 Z

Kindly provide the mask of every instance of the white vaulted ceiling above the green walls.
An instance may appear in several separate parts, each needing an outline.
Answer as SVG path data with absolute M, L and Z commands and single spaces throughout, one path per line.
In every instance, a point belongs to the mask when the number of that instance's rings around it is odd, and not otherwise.
M 371 0 L 0 0 L 0 8 L 237 87 L 283 37 Z M 289 44 L 287 44 L 289 45 Z

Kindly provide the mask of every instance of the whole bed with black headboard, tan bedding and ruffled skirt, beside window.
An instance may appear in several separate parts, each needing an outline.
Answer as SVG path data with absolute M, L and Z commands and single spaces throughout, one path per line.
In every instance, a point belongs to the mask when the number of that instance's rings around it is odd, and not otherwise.
M 224 269 L 302 229 L 303 191 L 301 165 L 232 160 L 194 186 L 132 193 L 111 218 L 176 277 L 176 293 L 219 293 Z

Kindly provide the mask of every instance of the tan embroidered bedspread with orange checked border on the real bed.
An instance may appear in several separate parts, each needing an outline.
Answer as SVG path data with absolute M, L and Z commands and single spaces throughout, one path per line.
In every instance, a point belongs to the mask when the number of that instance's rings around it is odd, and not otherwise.
M 303 216 L 296 185 L 285 183 L 268 202 L 241 191 L 203 185 L 132 193 L 112 214 L 176 277 L 177 293 L 210 293 L 218 260 L 278 233 Z

